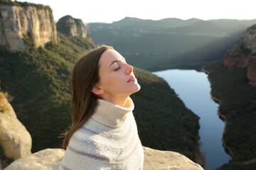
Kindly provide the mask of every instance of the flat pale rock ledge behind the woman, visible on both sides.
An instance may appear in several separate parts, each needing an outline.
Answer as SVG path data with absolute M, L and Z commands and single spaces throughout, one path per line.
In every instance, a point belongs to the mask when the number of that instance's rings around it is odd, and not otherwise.
M 203 170 L 203 168 L 177 152 L 159 151 L 149 147 L 144 149 L 143 169 Z M 57 170 L 64 156 L 64 149 L 44 149 L 16 160 L 4 170 Z

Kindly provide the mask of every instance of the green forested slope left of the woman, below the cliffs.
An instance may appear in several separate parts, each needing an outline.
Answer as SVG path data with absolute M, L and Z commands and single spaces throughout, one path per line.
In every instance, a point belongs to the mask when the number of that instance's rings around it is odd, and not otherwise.
M 95 47 L 88 38 L 58 33 L 59 43 L 9 52 L 0 48 L 1 90 L 33 139 L 32 151 L 60 147 L 60 133 L 70 123 L 70 72 L 82 53 Z

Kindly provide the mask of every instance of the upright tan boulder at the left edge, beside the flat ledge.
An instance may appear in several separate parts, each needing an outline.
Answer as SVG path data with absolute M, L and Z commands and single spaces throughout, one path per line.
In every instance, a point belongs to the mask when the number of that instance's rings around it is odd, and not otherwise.
M 14 109 L 0 92 L 0 145 L 5 157 L 19 159 L 31 154 L 32 139 L 17 119 Z

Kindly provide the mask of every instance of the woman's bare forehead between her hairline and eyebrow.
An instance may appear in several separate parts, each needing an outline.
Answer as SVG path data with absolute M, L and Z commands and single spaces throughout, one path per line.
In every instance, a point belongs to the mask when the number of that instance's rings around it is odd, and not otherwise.
M 100 66 L 106 65 L 108 67 L 114 60 L 121 60 L 122 58 L 122 55 L 116 50 L 106 50 L 102 53 L 99 64 Z

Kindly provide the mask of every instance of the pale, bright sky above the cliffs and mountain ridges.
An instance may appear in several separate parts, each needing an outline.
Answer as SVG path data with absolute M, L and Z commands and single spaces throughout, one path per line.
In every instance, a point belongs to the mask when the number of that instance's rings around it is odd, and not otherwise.
M 112 23 L 122 18 L 256 19 L 255 0 L 27 0 L 48 5 L 55 21 L 70 15 L 84 23 Z

